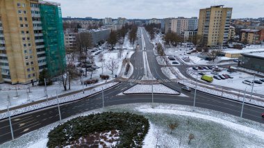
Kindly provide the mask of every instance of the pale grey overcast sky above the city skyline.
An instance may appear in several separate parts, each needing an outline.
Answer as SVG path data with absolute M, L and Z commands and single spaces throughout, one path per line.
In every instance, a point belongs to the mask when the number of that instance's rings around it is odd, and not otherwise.
M 49 0 L 61 3 L 63 17 L 198 17 L 200 8 L 224 5 L 232 18 L 264 17 L 264 0 Z

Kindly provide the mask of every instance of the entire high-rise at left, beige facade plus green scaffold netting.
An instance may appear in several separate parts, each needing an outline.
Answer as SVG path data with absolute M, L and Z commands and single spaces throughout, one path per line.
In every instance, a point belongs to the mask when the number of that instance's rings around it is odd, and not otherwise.
M 31 83 L 44 68 L 55 76 L 64 67 L 59 3 L 0 0 L 0 26 L 0 82 Z

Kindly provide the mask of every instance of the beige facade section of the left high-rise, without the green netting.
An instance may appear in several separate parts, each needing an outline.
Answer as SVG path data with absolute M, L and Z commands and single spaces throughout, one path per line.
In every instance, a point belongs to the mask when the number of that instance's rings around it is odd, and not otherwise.
M 2 81 L 13 84 L 30 83 L 38 78 L 31 2 L 35 1 L 0 0 L 0 21 L 4 40 L 4 48 L 0 48 Z

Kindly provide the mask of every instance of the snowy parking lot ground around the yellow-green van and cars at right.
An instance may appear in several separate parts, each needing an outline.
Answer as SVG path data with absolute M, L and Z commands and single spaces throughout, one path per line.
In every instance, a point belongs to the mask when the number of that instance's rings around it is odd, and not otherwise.
M 213 76 L 213 74 L 211 74 L 212 70 L 206 70 L 204 72 L 204 74 L 208 75 L 208 76 Z M 197 76 L 197 71 L 192 70 L 192 68 L 188 69 L 188 74 L 190 76 L 192 76 L 194 79 L 196 79 Z M 240 90 L 241 92 L 243 92 L 245 89 L 247 91 L 247 93 L 251 93 L 251 85 L 247 85 L 245 83 L 242 83 L 242 81 L 245 80 L 249 80 L 249 81 L 253 81 L 254 80 L 254 76 L 250 75 L 250 74 L 246 74 L 244 72 L 227 72 L 226 69 L 223 69 L 222 72 L 219 72 L 220 75 L 222 74 L 229 74 L 230 76 L 233 76 L 233 79 L 224 79 L 224 80 L 217 80 L 217 79 L 213 79 L 213 84 L 215 85 L 219 85 L 219 86 L 224 86 L 227 88 L 234 88 L 237 90 Z M 261 77 L 256 76 L 255 80 L 259 80 L 261 79 Z M 201 80 L 201 75 L 198 74 L 198 80 Z M 254 83 L 254 89 L 253 89 L 253 93 L 256 94 L 264 94 L 264 84 L 256 84 Z

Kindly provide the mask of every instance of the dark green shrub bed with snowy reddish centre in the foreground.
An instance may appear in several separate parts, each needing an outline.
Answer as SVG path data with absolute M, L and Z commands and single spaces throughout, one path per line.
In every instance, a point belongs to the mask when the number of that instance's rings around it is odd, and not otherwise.
M 47 147 L 142 147 L 149 121 L 132 113 L 76 117 L 49 132 Z

